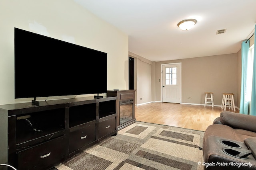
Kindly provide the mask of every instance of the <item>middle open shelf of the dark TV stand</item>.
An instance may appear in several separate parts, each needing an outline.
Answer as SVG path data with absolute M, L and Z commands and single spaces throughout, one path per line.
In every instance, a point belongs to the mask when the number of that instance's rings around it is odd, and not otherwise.
M 72 106 L 69 108 L 69 127 L 83 125 L 96 120 L 96 103 Z

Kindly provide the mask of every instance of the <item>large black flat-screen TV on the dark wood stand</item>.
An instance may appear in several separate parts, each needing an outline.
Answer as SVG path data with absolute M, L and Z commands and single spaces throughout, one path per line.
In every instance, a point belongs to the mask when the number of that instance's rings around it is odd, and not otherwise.
M 14 28 L 15 98 L 107 92 L 107 53 Z

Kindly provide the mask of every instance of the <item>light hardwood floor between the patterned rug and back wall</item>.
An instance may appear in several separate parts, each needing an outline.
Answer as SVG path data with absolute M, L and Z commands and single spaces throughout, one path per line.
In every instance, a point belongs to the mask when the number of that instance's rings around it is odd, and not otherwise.
M 135 106 L 135 117 L 137 121 L 170 125 L 205 131 L 216 117 L 224 110 L 221 107 L 197 106 L 174 103 L 150 103 Z M 226 109 L 226 111 L 232 111 Z M 236 109 L 235 113 L 239 113 Z

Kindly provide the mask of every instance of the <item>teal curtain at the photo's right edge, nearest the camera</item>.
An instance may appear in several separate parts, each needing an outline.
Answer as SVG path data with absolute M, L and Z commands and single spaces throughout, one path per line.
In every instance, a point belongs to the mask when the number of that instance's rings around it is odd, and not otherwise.
M 256 31 L 256 25 L 255 25 L 255 31 Z M 252 99 L 251 99 L 251 105 L 250 105 L 250 115 L 256 115 L 256 35 L 254 31 L 254 60 L 253 60 L 253 75 L 252 75 Z

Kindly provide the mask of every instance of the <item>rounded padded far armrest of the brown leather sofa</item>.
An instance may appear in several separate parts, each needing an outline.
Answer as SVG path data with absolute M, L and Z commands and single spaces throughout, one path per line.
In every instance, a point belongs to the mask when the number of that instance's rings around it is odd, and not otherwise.
M 223 111 L 220 113 L 220 122 L 234 129 L 244 129 L 256 132 L 256 116 Z

